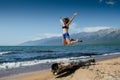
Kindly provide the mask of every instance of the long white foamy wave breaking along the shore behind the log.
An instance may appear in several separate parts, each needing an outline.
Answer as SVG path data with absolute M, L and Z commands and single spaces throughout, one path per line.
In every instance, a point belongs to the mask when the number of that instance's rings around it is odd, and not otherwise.
M 46 59 L 46 60 L 33 60 L 33 61 L 24 61 L 24 62 L 12 62 L 12 63 L 2 63 L 0 64 L 0 70 L 18 68 L 18 67 L 25 67 L 25 66 L 32 66 L 37 64 L 46 64 L 46 63 L 53 63 L 53 62 L 60 62 L 60 61 L 68 61 L 70 59 L 83 59 L 87 58 L 88 56 L 81 56 L 81 57 L 70 57 L 70 58 L 58 58 L 58 59 Z

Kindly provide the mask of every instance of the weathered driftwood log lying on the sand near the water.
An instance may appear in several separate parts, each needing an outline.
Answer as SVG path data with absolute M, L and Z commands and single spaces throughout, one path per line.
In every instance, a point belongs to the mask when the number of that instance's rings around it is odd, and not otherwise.
M 68 61 L 53 63 L 51 65 L 51 71 L 54 75 L 58 75 L 62 72 L 65 72 L 68 69 L 72 69 L 73 67 L 82 67 L 82 66 L 85 66 L 85 65 L 90 65 L 91 63 L 95 63 L 94 58 L 70 59 Z

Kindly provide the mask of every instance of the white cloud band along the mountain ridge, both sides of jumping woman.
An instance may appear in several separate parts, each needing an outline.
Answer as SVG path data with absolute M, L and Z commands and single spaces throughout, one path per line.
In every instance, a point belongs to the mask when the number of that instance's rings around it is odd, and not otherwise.
M 106 26 L 97 26 L 97 27 L 78 27 L 76 23 L 72 23 L 70 26 L 70 34 L 73 33 L 79 33 L 79 32 L 95 32 L 95 31 L 99 31 L 102 29 L 109 29 L 111 27 L 106 27 Z M 44 38 L 51 38 L 51 37 L 60 37 L 62 36 L 62 33 L 45 33 L 45 34 L 39 34 L 38 36 L 34 37 L 31 41 L 35 41 L 35 40 L 40 40 L 40 39 L 44 39 Z

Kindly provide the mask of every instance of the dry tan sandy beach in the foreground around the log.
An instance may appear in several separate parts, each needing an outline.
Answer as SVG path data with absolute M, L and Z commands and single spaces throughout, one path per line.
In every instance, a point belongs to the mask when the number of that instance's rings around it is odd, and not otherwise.
M 54 76 L 49 69 L 7 80 L 120 80 L 120 57 L 98 61 L 64 75 Z

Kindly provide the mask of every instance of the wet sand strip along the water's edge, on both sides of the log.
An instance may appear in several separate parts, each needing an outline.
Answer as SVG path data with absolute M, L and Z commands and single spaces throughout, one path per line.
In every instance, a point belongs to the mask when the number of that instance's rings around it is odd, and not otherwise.
M 120 54 L 107 55 L 107 56 L 106 55 L 105 56 L 98 55 L 95 57 L 97 62 L 111 60 L 111 59 L 115 59 L 115 58 L 120 58 Z M 14 72 L 11 71 L 11 73 L 1 76 L 0 79 L 6 80 L 9 78 L 17 78 L 17 77 L 27 76 L 27 75 L 31 75 L 31 74 L 42 74 L 42 73 L 47 73 L 47 72 L 50 73 L 50 65 L 51 64 L 48 64 L 47 66 L 44 65 L 43 67 L 40 67 L 40 65 L 37 65 L 37 66 L 34 65 L 31 68 L 26 67 L 26 68 L 18 69 L 18 70 L 13 69 Z M 25 69 L 27 69 L 27 70 L 25 70 Z

